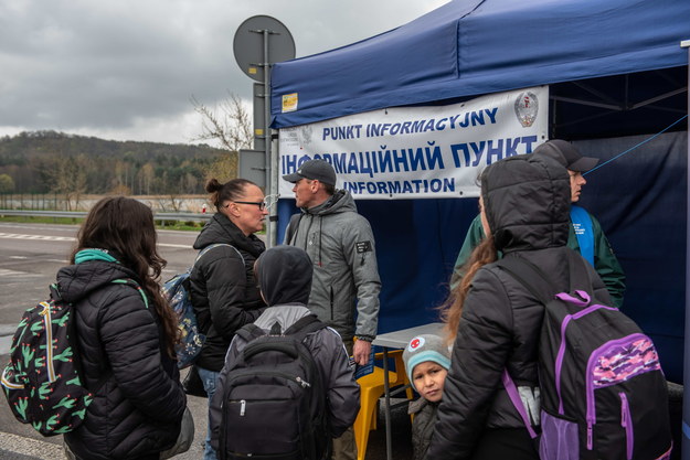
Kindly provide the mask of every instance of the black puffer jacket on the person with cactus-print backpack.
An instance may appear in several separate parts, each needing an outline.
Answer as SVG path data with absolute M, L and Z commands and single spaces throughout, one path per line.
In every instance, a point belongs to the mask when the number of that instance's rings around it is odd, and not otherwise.
M 63 298 L 75 304 L 86 386 L 107 377 L 84 424 L 64 437 L 84 459 L 137 459 L 169 449 L 187 405 L 153 306 L 147 308 L 136 288 L 112 282 L 123 278 L 137 276 L 100 260 L 57 274 Z

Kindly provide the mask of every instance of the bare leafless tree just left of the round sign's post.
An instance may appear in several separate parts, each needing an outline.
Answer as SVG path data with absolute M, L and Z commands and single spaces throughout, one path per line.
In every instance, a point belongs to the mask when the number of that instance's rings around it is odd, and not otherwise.
M 229 93 L 227 99 L 217 104 L 214 109 L 201 104 L 194 96 L 191 98 L 194 110 L 202 118 L 202 133 L 194 141 L 215 141 L 227 156 L 222 156 L 206 171 L 206 179 L 216 178 L 221 182 L 237 176 L 237 152 L 252 147 L 253 132 L 248 110 L 242 99 Z

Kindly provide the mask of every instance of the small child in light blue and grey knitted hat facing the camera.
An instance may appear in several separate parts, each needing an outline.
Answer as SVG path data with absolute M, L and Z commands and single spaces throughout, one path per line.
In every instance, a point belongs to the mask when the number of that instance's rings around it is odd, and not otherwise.
M 414 460 L 423 460 L 432 440 L 436 411 L 450 367 L 450 351 L 437 335 L 417 335 L 405 347 L 403 361 L 410 382 L 421 396 L 410 403 L 407 413 L 414 414 L 412 422 Z

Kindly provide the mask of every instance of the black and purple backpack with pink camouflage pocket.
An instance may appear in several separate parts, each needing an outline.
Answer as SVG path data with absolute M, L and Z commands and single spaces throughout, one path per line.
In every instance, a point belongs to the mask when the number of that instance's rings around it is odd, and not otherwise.
M 594 298 L 586 261 L 569 252 L 570 292 L 521 257 L 499 266 L 544 304 L 539 341 L 541 436 L 508 371 L 503 385 L 542 460 L 670 459 L 668 387 L 649 336 Z M 535 424 L 539 425 L 539 424 Z

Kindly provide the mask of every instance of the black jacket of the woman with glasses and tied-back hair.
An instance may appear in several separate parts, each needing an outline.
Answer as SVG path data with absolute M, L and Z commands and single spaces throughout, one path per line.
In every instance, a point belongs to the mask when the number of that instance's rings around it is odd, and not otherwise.
M 266 306 L 254 278 L 254 261 L 266 246 L 255 235 L 244 235 L 221 213 L 203 227 L 194 249 L 214 243 L 232 245 L 242 254 L 227 246 L 214 247 L 194 264 L 190 277 L 197 320 L 206 332 L 197 364 L 220 372 L 235 331 L 254 322 Z

